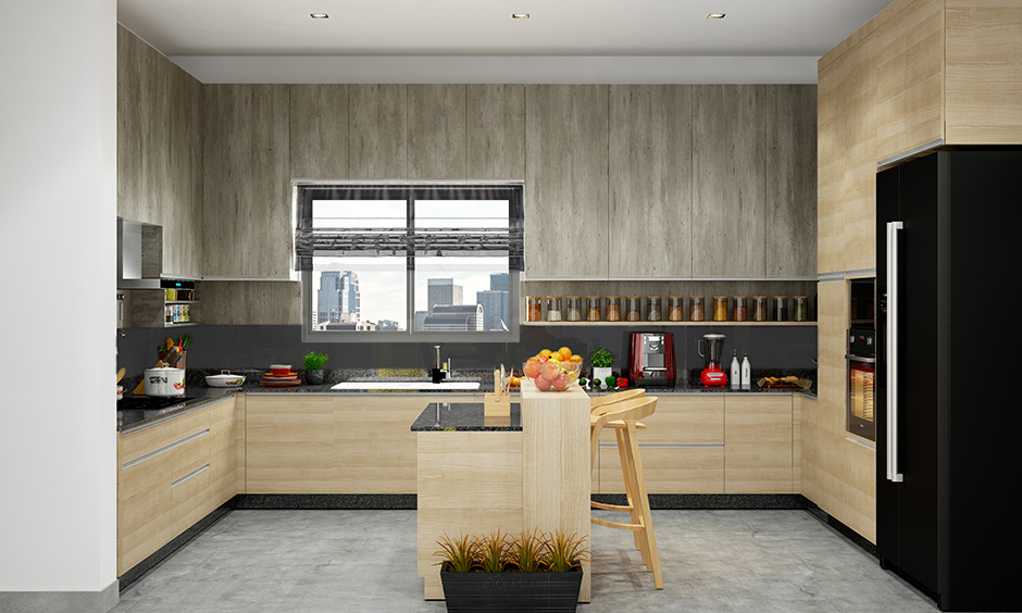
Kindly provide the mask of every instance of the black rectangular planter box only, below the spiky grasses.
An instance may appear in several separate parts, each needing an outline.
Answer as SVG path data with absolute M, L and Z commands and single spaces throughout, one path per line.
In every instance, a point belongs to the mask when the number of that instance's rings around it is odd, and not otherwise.
M 568 573 L 451 573 L 440 570 L 448 613 L 573 612 L 582 568 Z

